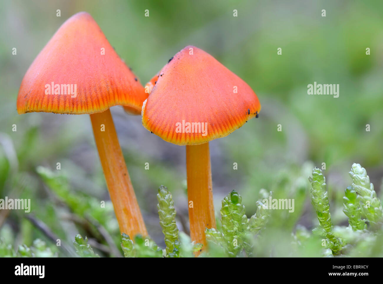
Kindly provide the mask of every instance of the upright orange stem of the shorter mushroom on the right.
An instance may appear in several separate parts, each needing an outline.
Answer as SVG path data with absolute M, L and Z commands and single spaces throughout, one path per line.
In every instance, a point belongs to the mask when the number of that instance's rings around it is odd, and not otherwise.
M 209 142 L 186 145 L 186 171 L 190 237 L 206 246 L 205 229 L 216 228 Z

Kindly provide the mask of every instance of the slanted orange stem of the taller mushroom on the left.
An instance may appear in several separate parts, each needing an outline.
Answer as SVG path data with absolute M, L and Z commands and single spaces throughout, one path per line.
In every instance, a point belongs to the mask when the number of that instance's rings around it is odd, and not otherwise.
M 110 110 L 90 114 L 90 120 L 120 232 L 131 239 L 137 234 L 147 236 Z

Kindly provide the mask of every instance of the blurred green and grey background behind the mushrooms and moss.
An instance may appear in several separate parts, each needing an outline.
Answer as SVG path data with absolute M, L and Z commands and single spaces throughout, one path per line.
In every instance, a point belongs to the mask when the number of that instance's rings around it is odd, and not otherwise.
M 93 196 L 97 204 L 109 200 L 89 116 L 18 115 L 16 97 L 38 52 L 79 11 L 93 16 L 143 84 L 190 44 L 216 57 L 257 93 L 262 104 L 259 119 L 210 143 L 217 214 L 221 199 L 232 189 L 244 197 L 250 216 L 261 188 L 275 191 L 275 198 L 298 198 L 297 183 L 303 183 L 306 190 L 295 212 L 289 217 L 278 213 L 276 227 L 285 224 L 286 234 L 297 224 L 312 229 L 317 220 L 306 183 L 312 166 L 321 168 L 322 163 L 334 223 L 347 224 L 341 198 L 351 183 L 353 162 L 367 169 L 380 195 L 382 1 L 2 0 L 0 5 L 0 198 L 31 198 L 31 214 L 65 242 L 78 232 L 90 233 L 68 217 L 71 210 L 57 201 L 36 167 L 65 175 L 71 192 Z M 149 17 L 144 16 L 146 9 Z M 12 55 L 13 47 L 17 55 Z M 278 47 L 282 55 L 277 55 Z M 339 84 L 339 98 L 308 95 L 307 85 L 314 81 Z M 149 233 L 163 245 L 156 207 L 160 184 L 172 192 L 178 227 L 188 232 L 185 147 L 151 135 L 140 116 L 129 116 L 120 106 L 111 112 Z M 149 170 L 144 170 L 146 162 Z M 234 162 L 238 170 L 233 170 Z M 113 213 L 106 223 L 110 234 L 118 237 Z M 0 236 L 15 244 L 28 245 L 36 237 L 47 240 L 21 211 L 1 211 L 0 226 Z

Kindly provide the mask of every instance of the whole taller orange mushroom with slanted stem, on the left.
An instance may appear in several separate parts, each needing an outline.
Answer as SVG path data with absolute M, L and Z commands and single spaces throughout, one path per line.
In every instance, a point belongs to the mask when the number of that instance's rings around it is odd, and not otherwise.
M 34 59 L 17 98 L 19 114 L 90 114 L 119 228 L 131 237 L 147 230 L 109 108 L 124 105 L 139 114 L 146 98 L 141 83 L 85 12 L 65 21 Z

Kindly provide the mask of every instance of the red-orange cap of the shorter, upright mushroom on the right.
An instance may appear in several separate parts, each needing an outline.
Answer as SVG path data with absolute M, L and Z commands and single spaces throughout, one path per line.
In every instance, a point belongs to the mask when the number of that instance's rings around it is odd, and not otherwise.
M 142 124 L 177 145 L 203 144 L 229 135 L 261 109 L 249 85 L 194 46 L 174 55 L 148 82 L 151 85 L 142 105 Z

